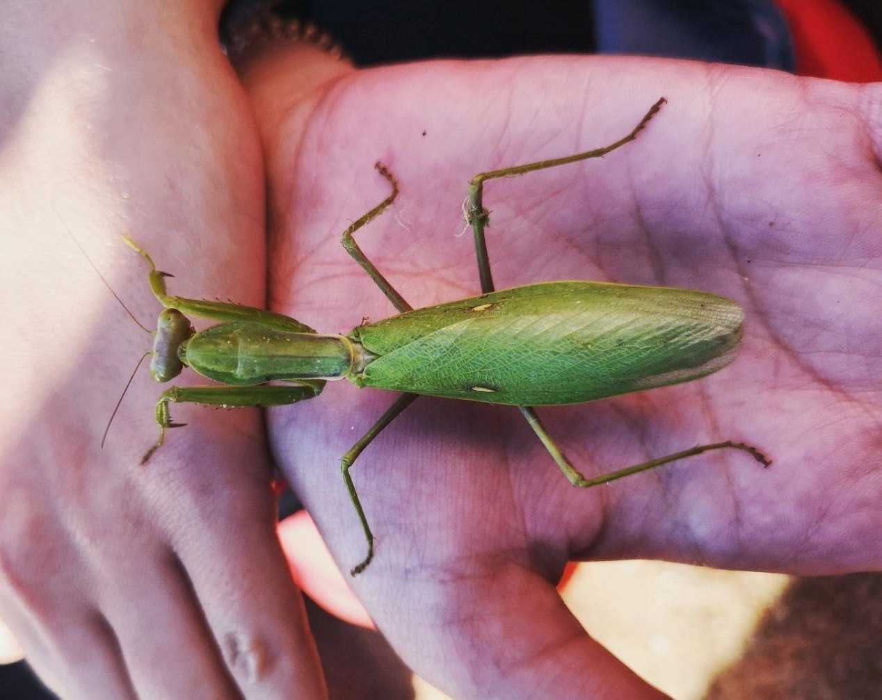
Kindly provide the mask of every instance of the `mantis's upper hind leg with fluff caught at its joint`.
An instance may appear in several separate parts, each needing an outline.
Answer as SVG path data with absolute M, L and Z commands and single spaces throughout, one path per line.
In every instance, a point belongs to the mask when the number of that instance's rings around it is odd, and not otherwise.
M 666 101 L 667 100 L 662 97 L 662 99 L 655 102 L 655 104 L 651 108 L 649 108 L 647 114 L 644 115 L 643 118 L 639 121 L 637 126 L 632 129 L 631 133 L 629 133 L 624 138 L 620 138 L 614 144 L 606 145 L 602 148 L 595 148 L 593 151 L 576 153 L 574 155 L 566 156 L 564 158 L 539 160 L 535 163 L 527 163 L 526 165 L 513 166 L 512 168 L 490 170 L 489 172 L 479 173 L 478 175 L 475 175 L 475 177 L 473 177 L 471 181 L 468 182 L 468 205 L 466 209 L 466 223 L 470 224 L 472 230 L 475 232 L 475 255 L 478 259 L 478 275 L 481 278 L 482 294 L 492 292 L 495 288 L 493 286 L 493 276 L 490 273 L 490 258 L 487 255 L 487 242 L 484 240 L 484 227 L 490 225 L 490 212 L 484 209 L 483 205 L 484 182 L 486 182 L 487 180 L 494 180 L 497 177 L 511 177 L 512 175 L 523 175 L 524 173 L 531 173 L 534 170 L 557 168 L 557 166 L 559 165 L 574 163 L 578 160 L 600 158 L 601 156 L 615 151 L 620 146 L 630 143 L 635 138 L 637 138 L 639 132 L 643 130 L 649 120 L 652 119 L 655 113 L 662 108 L 662 105 Z

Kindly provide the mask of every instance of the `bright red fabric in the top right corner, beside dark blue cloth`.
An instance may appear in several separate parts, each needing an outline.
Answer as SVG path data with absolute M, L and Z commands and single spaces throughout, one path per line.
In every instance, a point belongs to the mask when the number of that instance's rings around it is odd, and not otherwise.
M 882 80 L 882 57 L 870 34 L 836 0 L 775 0 L 796 47 L 796 72 L 854 83 Z

